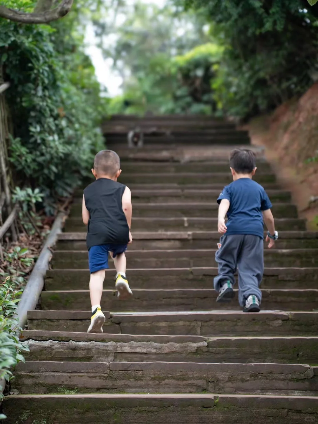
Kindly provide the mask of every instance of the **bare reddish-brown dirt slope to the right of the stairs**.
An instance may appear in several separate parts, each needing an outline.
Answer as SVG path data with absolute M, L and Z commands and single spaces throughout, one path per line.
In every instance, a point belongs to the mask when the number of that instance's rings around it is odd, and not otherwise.
M 280 183 L 293 193 L 308 229 L 318 230 L 318 83 L 300 99 L 279 106 L 247 127 L 254 145 L 265 146 Z

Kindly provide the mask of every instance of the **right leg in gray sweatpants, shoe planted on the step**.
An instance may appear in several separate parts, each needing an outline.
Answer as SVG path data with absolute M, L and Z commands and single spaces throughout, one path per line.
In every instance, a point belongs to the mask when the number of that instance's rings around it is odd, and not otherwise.
M 245 234 L 237 268 L 240 305 L 244 312 L 259 312 L 262 301 L 259 286 L 264 272 L 264 241 L 261 237 Z

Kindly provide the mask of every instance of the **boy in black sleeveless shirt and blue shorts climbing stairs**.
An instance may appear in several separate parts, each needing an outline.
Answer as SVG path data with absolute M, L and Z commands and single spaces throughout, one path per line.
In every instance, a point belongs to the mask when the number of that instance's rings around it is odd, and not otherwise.
M 118 298 L 132 296 L 126 279 L 127 244 L 132 242 L 131 192 L 128 187 L 117 182 L 120 176 L 120 159 L 112 150 L 97 153 L 92 173 L 96 178 L 84 190 L 82 215 L 87 225 L 86 244 L 89 256 L 89 293 L 92 304 L 92 317 L 88 333 L 102 333 L 105 316 L 100 308 L 103 293 L 105 269 L 108 254 L 114 260 L 117 271 L 115 287 Z

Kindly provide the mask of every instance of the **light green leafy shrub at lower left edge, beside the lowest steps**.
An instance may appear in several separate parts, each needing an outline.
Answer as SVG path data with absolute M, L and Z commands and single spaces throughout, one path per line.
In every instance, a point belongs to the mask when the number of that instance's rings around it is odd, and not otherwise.
M 9 278 L 0 284 L 0 381 L 12 378 L 11 369 L 20 361 L 25 362 L 22 352 L 29 351 L 28 346 L 19 340 L 21 328 L 14 317 L 21 294 L 22 290 L 14 290 Z M 0 401 L 2 391 L 0 386 Z

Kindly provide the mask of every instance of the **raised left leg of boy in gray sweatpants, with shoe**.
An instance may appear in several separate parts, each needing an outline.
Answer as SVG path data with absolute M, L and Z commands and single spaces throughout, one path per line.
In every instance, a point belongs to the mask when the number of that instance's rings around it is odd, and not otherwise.
M 215 260 L 218 263 L 218 276 L 214 279 L 214 288 L 219 293 L 217 302 L 229 302 L 234 298 L 234 273 L 236 272 L 242 237 L 240 234 L 221 237 L 221 247 L 215 254 Z

